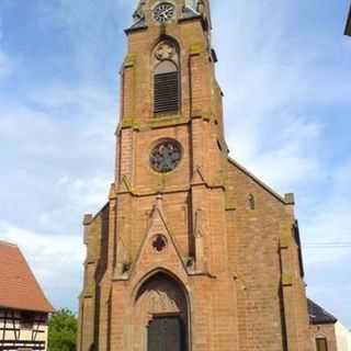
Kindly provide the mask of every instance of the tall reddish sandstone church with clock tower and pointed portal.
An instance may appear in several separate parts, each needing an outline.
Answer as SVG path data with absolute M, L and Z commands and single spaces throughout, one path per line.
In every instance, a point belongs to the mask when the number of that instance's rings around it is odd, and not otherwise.
M 140 0 L 78 351 L 313 351 L 294 195 L 229 157 L 208 0 Z

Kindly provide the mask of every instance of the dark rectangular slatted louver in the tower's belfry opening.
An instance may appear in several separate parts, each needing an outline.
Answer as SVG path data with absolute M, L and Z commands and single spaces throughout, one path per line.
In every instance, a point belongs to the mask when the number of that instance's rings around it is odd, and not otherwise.
M 155 75 L 155 113 L 177 112 L 179 110 L 178 71 Z

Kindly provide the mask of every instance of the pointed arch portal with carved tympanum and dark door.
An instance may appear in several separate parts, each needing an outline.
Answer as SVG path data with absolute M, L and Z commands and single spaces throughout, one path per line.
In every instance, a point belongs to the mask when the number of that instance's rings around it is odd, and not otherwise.
M 184 287 L 167 273 L 158 272 L 139 287 L 134 318 L 143 351 L 188 351 L 189 307 Z M 141 331 L 141 332 L 138 332 Z

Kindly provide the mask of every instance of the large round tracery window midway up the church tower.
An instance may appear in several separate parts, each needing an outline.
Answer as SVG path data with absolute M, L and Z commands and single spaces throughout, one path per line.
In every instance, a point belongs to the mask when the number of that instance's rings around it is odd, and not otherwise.
M 181 146 L 176 140 L 163 140 L 150 154 L 154 170 L 167 173 L 177 168 L 182 158 Z

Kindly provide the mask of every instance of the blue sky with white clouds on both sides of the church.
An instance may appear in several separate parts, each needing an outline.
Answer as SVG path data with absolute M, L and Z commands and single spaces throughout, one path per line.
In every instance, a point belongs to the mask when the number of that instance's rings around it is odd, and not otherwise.
M 0 239 L 22 247 L 55 307 L 77 309 L 81 218 L 113 180 L 135 2 L 0 0 Z M 212 2 L 231 157 L 295 193 L 308 294 L 351 328 L 349 1 Z

